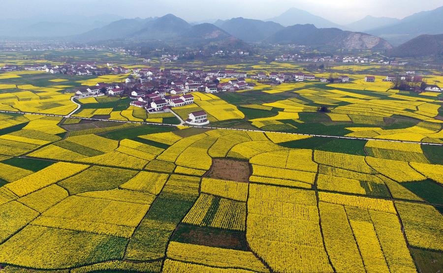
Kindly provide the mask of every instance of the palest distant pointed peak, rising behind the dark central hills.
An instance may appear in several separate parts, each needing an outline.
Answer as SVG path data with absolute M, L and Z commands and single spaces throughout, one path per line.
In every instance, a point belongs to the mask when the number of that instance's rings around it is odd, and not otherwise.
M 341 26 L 332 23 L 331 21 L 328 21 L 320 16 L 313 15 L 305 10 L 301 10 L 298 8 L 290 8 L 280 16 L 265 20 L 265 21 L 272 21 L 275 23 L 279 23 L 282 26 L 293 26 L 293 25 L 305 25 L 305 24 L 312 24 L 316 27 L 338 27 L 342 28 Z

